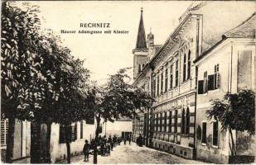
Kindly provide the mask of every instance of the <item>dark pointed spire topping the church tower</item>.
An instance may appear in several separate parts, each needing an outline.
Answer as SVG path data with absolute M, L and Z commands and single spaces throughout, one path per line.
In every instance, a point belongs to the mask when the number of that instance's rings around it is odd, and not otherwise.
M 135 50 L 147 49 L 146 35 L 143 23 L 143 8 L 141 8 L 141 18 L 138 26 L 138 36 Z

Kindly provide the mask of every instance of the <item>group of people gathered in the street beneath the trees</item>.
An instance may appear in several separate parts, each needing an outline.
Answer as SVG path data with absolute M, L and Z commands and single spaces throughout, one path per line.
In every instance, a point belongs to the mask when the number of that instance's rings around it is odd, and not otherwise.
M 126 144 L 127 139 L 129 141 L 129 144 L 131 144 L 130 137 L 124 138 L 124 144 Z M 102 156 L 109 156 L 110 151 L 113 151 L 113 148 L 116 147 L 117 145 L 120 145 L 121 142 L 122 142 L 122 139 L 115 135 L 113 138 L 111 137 L 111 135 L 109 135 L 109 138 L 107 138 L 106 135 L 104 135 L 104 137 L 101 137 L 99 135 L 97 144 L 95 143 L 94 139 L 91 140 L 90 144 L 89 144 L 88 140 L 85 140 L 85 145 L 83 148 L 83 153 L 85 155 L 85 162 L 89 161 L 89 153 L 90 153 L 89 151 L 91 149 L 94 149 L 95 145 L 97 146 L 97 152 L 99 154 L 101 154 Z

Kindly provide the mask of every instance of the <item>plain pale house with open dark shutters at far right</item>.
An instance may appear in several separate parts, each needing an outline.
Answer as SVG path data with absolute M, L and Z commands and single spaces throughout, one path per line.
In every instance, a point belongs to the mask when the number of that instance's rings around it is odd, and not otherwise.
M 225 32 L 217 44 L 195 61 L 198 70 L 196 157 L 199 159 L 215 163 L 234 161 L 229 148 L 232 143 L 229 131 L 220 131 L 220 122 L 208 120 L 205 111 L 210 109 L 211 100 L 222 99 L 226 92 L 256 91 L 255 25 L 254 13 L 239 26 Z M 233 131 L 233 136 L 239 159 L 244 155 L 247 159 L 254 158 L 255 136 L 239 131 Z

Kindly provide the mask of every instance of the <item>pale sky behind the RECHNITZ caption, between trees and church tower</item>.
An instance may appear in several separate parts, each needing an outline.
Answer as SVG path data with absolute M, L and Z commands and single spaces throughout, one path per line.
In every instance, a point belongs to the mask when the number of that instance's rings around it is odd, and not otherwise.
M 152 29 L 155 44 L 164 44 L 178 25 L 179 16 L 191 2 L 176 1 L 39 1 L 30 2 L 40 7 L 42 28 L 60 35 L 63 45 L 77 58 L 85 59 L 91 79 L 103 83 L 119 68 L 133 67 L 140 10 L 146 34 Z M 110 28 L 85 28 L 80 23 L 110 23 Z M 76 31 L 61 34 L 60 31 Z M 128 34 L 78 34 L 80 30 L 128 31 Z M 132 76 L 132 70 L 129 72 Z

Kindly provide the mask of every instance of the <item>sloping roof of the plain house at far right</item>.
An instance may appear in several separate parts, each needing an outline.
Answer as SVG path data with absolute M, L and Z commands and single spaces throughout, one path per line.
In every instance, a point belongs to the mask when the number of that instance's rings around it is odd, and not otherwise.
M 232 30 L 225 32 L 222 35 L 222 40 L 219 40 L 215 45 L 213 45 L 209 50 L 206 50 L 204 54 L 200 55 L 197 59 L 194 60 L 194 63 L 203 59 L 211 50 L 214 50 L 216 46 L 220 45 L 227 38 L 255 38 L 255 25 L 256 25 L 256 15 L 255 13 L 250 16 L 248 19 L 243 21 L 239 26 L 234 27 Z

